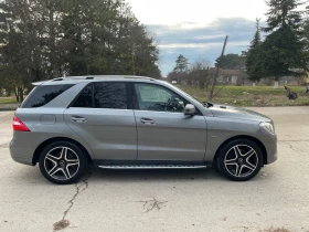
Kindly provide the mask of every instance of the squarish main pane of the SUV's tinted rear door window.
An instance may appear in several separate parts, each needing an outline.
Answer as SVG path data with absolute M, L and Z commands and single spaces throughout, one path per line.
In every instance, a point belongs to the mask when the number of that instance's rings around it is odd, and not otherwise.
M 94 101 L 96 108 L 127 109 L 127 86 L 125 83 L 95 83 Z

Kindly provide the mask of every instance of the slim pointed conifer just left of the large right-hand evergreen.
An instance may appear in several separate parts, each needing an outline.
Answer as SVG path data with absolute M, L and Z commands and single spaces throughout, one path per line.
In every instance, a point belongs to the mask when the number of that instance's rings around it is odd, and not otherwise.
M 260 40 L 260 28 L 259 28 L 260 19 L 256 19 L 256 32 L 251 42 L 251 46 L 248 51 L 245 53 L 246 56 L 246 73 L 252 81 L 259 81 L 263 73 L 263 64 L 262 64 L 262 40 Z

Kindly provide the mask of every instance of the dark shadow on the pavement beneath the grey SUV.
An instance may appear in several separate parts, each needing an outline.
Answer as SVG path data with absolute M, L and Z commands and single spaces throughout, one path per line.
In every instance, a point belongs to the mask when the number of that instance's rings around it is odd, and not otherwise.
M 53 184 L 45 180 L 41 175 L 39 167 L 23 167 L 11 177 L 18 184 Z M 78 182 L 89 183 L 104 182 L 185 182 L 185 181 L 210 181 L 210 182 L 233 182 L 224 178 L 219 171 L 213 168 L 205 169 L 131 169 L 131 170 L 113 170 L 102 169 L 96 166 L 88 166 L 86 172 Z M 248 182 L 263 181 L 258 175 Z M 242 182 L 238 182 L 242 183 Z

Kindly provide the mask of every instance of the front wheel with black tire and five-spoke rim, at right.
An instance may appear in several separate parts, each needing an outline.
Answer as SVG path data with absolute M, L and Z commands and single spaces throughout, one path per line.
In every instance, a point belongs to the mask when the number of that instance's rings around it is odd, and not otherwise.
M 216 165 L 220 172 L 234 181 L 254 178 L 263 167 L 264 159 L 259 146 L 249 139 L 235 139 L 219 151 Z

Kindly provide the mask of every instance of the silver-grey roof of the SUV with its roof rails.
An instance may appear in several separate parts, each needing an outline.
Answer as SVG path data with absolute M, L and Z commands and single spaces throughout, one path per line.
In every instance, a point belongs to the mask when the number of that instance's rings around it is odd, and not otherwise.
M 87 75 L 87 76 L 64 76 L 53 80 L 32 83 L 33 85 L 57 85 L 57 84 L 77 84 L 83 82 L 149 82 L 156 81 L 147 76 L 129 76 L 129 75 Z

